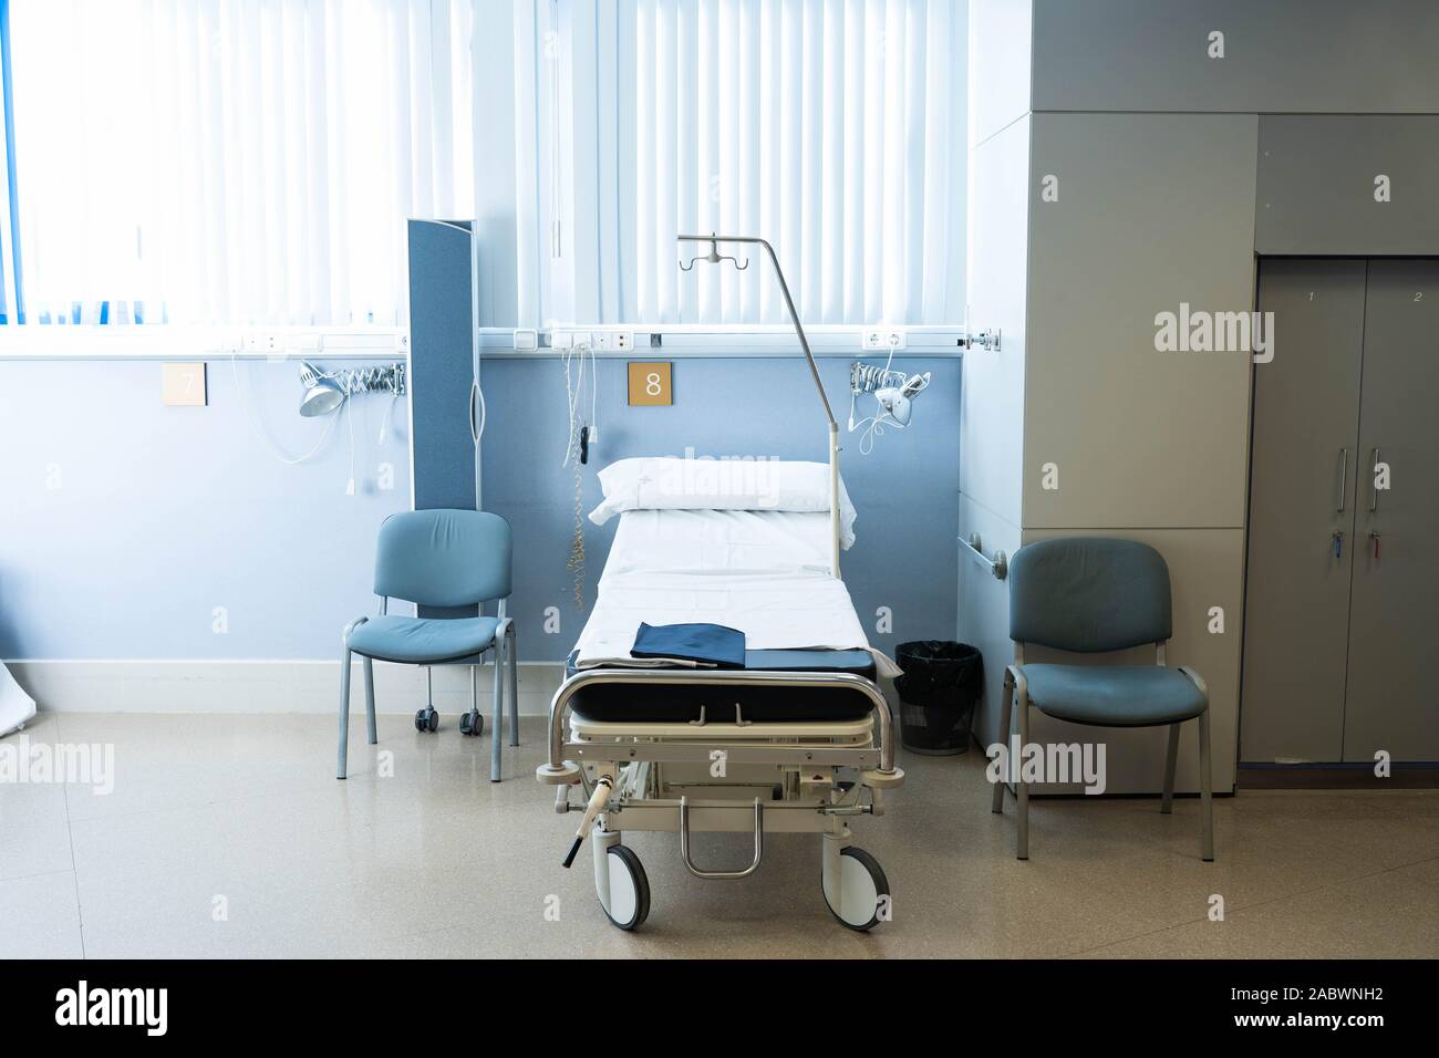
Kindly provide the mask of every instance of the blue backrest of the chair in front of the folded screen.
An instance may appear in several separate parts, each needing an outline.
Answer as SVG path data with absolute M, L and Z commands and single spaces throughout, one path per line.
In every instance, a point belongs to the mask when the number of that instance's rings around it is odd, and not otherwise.
M 509 523 L 488 511 L 401 511 L 380 525 L 374 592 L 420 606 L 509 594 Z

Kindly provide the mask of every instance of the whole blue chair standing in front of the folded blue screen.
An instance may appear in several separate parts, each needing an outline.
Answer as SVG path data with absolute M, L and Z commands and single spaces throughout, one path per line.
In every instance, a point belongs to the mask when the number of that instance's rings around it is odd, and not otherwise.
M 495 702 L 491 723 L 489 780 L 499 782 L 499 734 L 504 727 L 501 655 L 509 662 L 509 744 L 519 744 L 519 698 L 515 672 L 515 623 L 505 615 L 509 596 L 509 559 L 514 541 L 509 523 L 485 511 L 404 511 L 380 525 L 374 560 L 374 593 L 380 616 L 355 618 L 345 626 L 340 666 L 340 764 L 345 777 L 350 750 L 350 662 L 364 658 L 364 705 L 374 746 L 374 661 L 401 665 L 469 665 L 469 714 L 465 734 L 479 734 L 479 664 L 494 651 Z M 390 599 L 419 606 L 469 607 L 498 600 L 498 616 L 400 618 L 389 613 Z M 429 678 L 429 674 L 426 674 Z M 435 731 L 433 682 L 430 697 L 416 717 L 416 727 Z

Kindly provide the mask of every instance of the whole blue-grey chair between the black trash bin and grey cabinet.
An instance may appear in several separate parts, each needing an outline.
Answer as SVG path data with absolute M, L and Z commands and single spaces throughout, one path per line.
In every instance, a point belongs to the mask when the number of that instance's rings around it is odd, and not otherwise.
M 1215 816 L 1209 774 L 1209 689 L 1190 668 L 1164 665 L 1164 643 L 1173 635 L 1168 566 L 1148 544 L 1135 540 L 1075 537 L 1022 547 L 1009 566 L 1009 638 L 1014 664 L 1004 672 L 1000 731 L 1010 733 L 1010 704 L 1019 698 L 1020 746 L 1029 744 L 1029 707 L 1098 727 L 1168 725 L 1164 797 L 1174 803 L 1179 728 L 1199 720 L 1199 789 L 1203 856 L 1215 858 Z M 1029 665 L 1025 643 L 1075 654 L 1124 651 L 1154 643 L 1150 665 Z M 1016 774 L 1019 833 L 1016 855 L 1029 859 L 1029 785 Z M 1004 783 L 994 785 L 994 812 L 1004 810 Z

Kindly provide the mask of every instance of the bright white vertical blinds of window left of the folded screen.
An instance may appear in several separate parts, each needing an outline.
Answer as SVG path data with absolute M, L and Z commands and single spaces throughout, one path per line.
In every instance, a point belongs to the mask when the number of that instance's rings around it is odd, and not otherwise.
M 473 209 L 471 3 L 10 0 L 33 322 L 394 324 Z

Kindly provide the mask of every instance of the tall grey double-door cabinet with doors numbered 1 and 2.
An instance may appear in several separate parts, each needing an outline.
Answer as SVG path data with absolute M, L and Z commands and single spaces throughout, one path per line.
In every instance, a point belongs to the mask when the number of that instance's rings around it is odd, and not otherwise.
M 1240 760 L 1436 760 L 1439 263 L 1266 259 L 1259 308 Z

